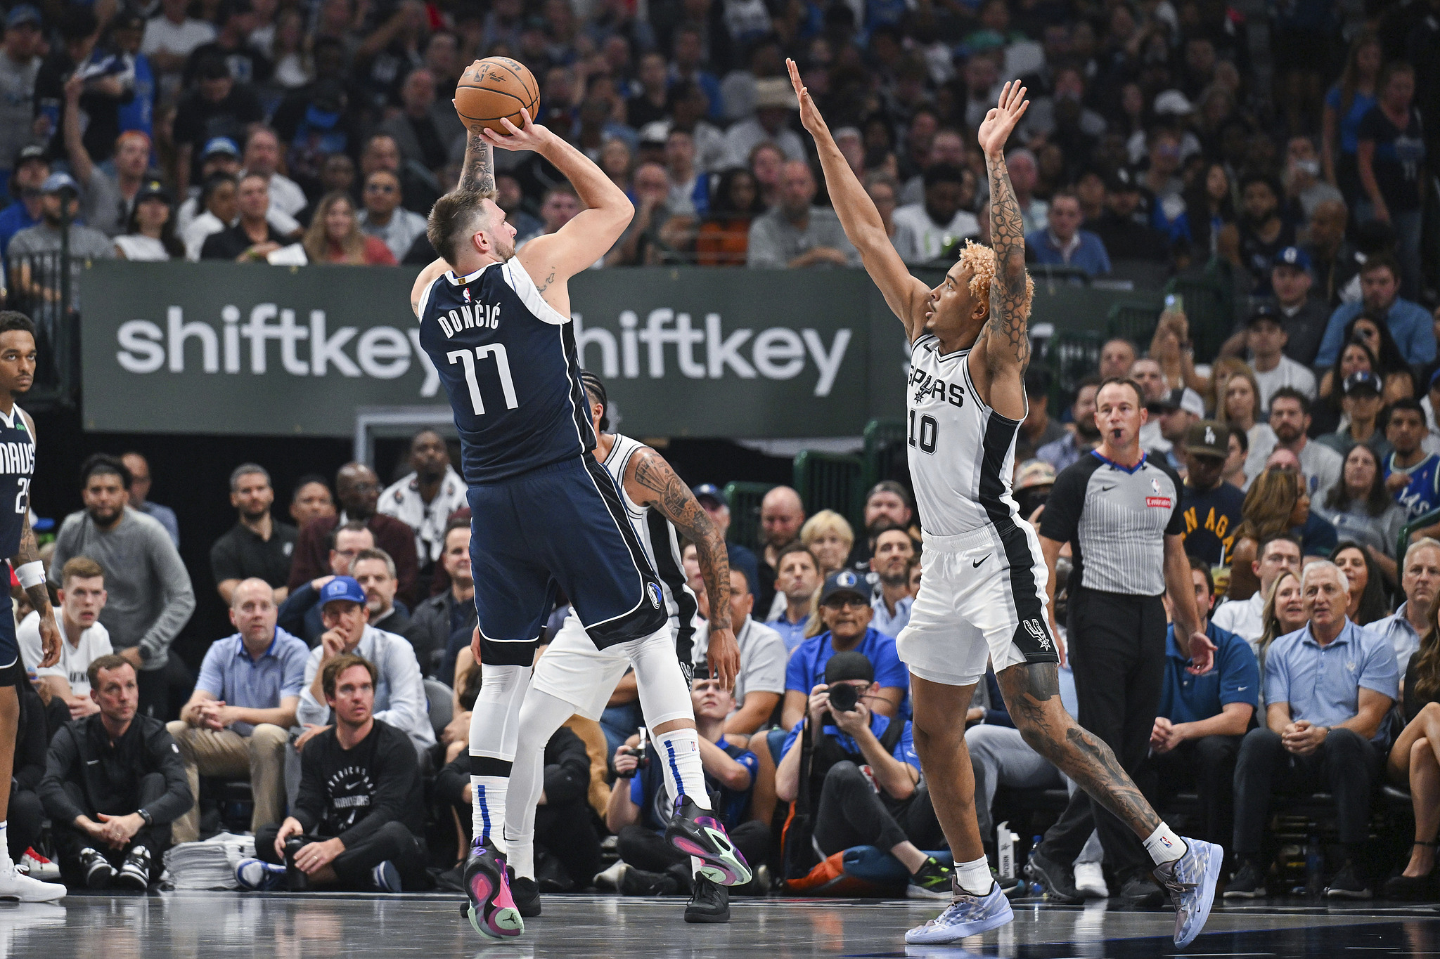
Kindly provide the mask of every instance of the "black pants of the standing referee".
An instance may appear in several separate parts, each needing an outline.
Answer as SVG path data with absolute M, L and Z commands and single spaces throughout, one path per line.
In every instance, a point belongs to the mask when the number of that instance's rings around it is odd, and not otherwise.
M 1159 597 L 1076 589 L 1070 597 L 1067 641 L 1081 726 L 1099 736 L 1130 776 L 1149 753 L 1151 730 L 1165 682 L 1165 605 Z M 1149 873 L 1151 857 L 1125 822 L 1083 789 L 1045 832 L 1041 851 L 1056 863 L 1080 855 L 1092 830 L 1110 868 L 1123 881 Z

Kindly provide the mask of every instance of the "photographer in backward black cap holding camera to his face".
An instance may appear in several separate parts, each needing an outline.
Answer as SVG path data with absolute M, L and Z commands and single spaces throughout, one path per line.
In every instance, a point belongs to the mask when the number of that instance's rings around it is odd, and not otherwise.
M 920 779 L 910 722 L 873 712 L 877 693 L 874 666 L 863 653 L 835 653 L 825 682 L 811 690 L 805 717 L 785 740 L 775 792 L 793 802 L 806 778 L 806 812 L 822 854 L 877 845 L 910 873 L 909 896 L 949 899 L 950 867 L 920 851 L 940 845 L 945 835 Z

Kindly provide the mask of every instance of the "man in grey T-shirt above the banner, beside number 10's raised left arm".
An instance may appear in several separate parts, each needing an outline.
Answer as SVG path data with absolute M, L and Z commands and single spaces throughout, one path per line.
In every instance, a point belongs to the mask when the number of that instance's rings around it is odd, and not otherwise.
M 809 266 L 860 266 L 860 253 L 845 239 L 840 217 L 832 208 L 816 207 L 814 203 L 815 174 L 809 164 L 788 161 L 780 168 L 775 208 L 750 224 L 746 266 L 792 270 Z

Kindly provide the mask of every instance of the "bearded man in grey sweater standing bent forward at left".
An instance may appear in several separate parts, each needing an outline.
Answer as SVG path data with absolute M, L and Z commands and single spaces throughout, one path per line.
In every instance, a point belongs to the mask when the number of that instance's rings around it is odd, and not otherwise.
M 85 460 L 85 509 L 65 518 L 50 566 L 59 571 L 71 556 L 89 556 L 107 571 L 109 598 L 99 621 L 115 651 L 138 673 L 141 715 L 167 719 L 170 687 L 189 680 L 184 663 L 170 656 L 170 644 L 194 612 L 194 589 L 170 533 L 127 505 L 130 482 L 130 472 L 112 456 L 96 453 Z M 176 705 L 189 696 L 177 693 Z

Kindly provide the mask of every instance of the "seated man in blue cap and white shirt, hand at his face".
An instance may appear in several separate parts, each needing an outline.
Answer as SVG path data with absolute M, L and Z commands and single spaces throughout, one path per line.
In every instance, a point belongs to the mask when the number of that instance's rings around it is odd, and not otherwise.
M 410 738 L 418 752 L 435 745 L 429 703 L 415 650 L 402 637 L 370 625 L 364 589 L 350 577 L 336 577 L 320 589 L 325 633 L 305 660 L 305 689 L 295 719 L 310 726 L 295 749 L 304 749 L 324 726 L 333 707 L 334 687 L 325 689 L 325 666 L 341 656 L 360 656 L 373 664 L 372 703 L 374 717 Z

